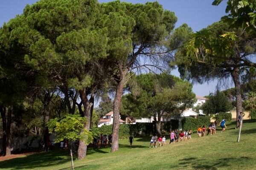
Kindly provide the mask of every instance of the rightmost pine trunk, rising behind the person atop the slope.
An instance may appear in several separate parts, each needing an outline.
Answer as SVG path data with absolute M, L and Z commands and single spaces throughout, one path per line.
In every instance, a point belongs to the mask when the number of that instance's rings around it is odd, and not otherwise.
M 239 78 L 239 68 L 234 68 L 231 72 L 236 90 L 236 121 L 239 113 L 242 111 L 242 97 L 241 97 L 241 84 Z

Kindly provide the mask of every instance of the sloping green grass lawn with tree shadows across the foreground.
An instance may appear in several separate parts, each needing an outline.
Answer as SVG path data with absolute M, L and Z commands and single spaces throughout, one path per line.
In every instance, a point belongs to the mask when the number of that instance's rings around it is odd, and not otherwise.
M 235 123 L 227 124 L 227 130 L 212 136 L 148 148 L 150 137 L 135 138 L 133 147 L 128 139 L 120 140 L 119 151 L 110 148 L 93 150 L 87 157 L 75 160 L 75 170 L 256 170 L 256 120 L 244 121 L 240 142 L 236 142 L 238 130 Z M 169 135 L 167 143 L 169 143 Z M 76 159 L 76 158 L 75 158 Z M 70 170 L 70 156 L 65 152 L 51 151 L 11 160 L 1 161 L 1 170 Z

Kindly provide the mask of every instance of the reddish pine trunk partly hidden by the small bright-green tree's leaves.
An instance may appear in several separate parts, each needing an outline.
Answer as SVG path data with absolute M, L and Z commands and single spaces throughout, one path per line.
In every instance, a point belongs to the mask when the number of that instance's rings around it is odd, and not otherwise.
M 84 130 L 90 130 L 90 116 L 91 116 L 91 107 L 92 104 L 89 102 L 87 99 L 87 94 L 86 94 L 86 88 L 80 91 L 80 98 L 81 101 L 84 105 L 84 117 L 86 118 L 86 122 L 84 124 Z M 79 147 L 78 147 L 78 159 L 83 159 L 86 156 L 86 151 L 87 151 L 87 145 L 84 141 L 80 140 L 79 141 Z

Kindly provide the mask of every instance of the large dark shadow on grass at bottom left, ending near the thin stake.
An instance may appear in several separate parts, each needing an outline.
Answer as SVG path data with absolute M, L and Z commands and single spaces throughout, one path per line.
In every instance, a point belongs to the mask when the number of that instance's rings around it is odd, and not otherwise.
M 0 162 L 0 169 L 9 168 L 12 170 L 32 169 L 49 167 L 64 164 L 70 161 L 67 152 L 61 150 L 49 151 L 44 153 L 36 153 L 27 155 L 26 157 L 14 158 Z

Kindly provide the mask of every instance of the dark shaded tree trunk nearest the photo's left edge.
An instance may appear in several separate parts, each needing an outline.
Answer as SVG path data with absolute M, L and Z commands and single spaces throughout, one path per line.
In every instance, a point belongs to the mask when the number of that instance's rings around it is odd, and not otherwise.
M 3 156 L 6 156 L 6 131 L 7 131 L 7 126 L 6 126 L 6 107 L 0 106 L 0 113 L 2 116 L 2 125 L 3 125 L 3 136 L 2 136 L 2 151 L 3 151 Z

